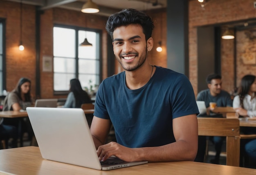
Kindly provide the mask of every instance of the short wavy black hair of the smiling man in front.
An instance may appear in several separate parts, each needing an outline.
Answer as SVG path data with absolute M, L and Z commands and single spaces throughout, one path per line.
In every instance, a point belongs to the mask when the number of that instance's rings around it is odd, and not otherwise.
M 146 40 L 151 37 L 154 29 L 153 20 L 146 13 L 135 9 L 123 9 L 109 16 L 106 30 L 113 40 L 113 32 L 117 27 L 139 24 L 143 29 Z

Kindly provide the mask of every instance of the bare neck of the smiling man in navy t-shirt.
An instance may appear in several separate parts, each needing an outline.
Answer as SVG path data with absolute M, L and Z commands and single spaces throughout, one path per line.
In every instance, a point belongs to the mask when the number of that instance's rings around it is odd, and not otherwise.
M 125 71 L 127 87 L 131 90 L 143 87 L 144 85 L 146 85 L 146 83 L 148 83 L 154 72 L 155 67 L 149 64 L 139 67 L 137 70 L 134 71 Z

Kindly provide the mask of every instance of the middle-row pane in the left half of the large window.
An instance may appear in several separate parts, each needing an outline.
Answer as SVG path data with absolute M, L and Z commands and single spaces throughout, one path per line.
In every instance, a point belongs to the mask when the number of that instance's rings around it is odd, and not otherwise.
M 54 72 L 75 73 L 76 60 L 74 58 L 54 58 Z

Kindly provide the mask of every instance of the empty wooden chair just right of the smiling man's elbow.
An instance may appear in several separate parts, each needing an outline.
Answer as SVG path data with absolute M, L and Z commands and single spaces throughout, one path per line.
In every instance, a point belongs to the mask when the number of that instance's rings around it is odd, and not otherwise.
M 198 117 L 198 135 L 227 137 L 227 165 L 239 166 L 240 130 L 238 119 Z

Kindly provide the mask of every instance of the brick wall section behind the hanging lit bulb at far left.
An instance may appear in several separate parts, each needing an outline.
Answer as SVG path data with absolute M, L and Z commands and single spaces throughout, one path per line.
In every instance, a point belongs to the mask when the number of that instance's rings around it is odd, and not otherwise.
M 20 77 L 31 79 L 31 94 L 35 96 L 36 49 L 35 7 L 23 4 L 22 42 L 20 44 L 20 3 L 0 1 L 0 17 L 6 18 L 6 90 L 15 88 Z

